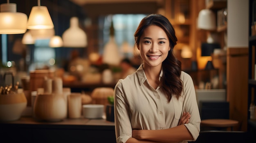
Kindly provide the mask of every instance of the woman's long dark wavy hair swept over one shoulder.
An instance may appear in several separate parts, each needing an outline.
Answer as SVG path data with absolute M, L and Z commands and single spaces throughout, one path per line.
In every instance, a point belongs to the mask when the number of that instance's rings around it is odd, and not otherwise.
M 137 30 L 135 31 L 135 44 L 139 47 L 139 39 L 146 29 L 150 25 L 156 25 L 162 28 L 168 36 L 171 50 L 168 52 L 168 56 L 162 63 L 163 76 L 161 78 L 161 84 L 164 92 L 168 97 L 168 103 L 171 101 L 172 95 L 177 98 L 182 92 L 182 80 L 180 79 L 181 74 L 181 62 L 176 59 L 173 48 L 177 44 L 177 37 L 175 36 L 175 30 L 169 20 L 163 15 L 151 14 L 143 18 L 139 23 Z M 136 48 L 135 46 L 135 48 Z

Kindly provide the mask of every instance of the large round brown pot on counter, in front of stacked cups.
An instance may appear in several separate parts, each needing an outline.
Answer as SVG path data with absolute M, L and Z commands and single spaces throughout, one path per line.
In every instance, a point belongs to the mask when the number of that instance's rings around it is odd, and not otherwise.
M 41 93 L 36 96 L 34 117 L 42 121 L 62 121 L 67 117 L 67 105 L 62 94 Z

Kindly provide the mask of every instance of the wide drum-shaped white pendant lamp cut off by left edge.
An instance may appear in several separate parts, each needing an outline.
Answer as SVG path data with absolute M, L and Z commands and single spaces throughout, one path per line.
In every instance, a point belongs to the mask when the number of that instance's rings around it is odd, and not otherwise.
M 22 34 L 27 30 L 27 15 L 16 12 L 16 4 L 7 3 L 0 6 L 0 34 Z

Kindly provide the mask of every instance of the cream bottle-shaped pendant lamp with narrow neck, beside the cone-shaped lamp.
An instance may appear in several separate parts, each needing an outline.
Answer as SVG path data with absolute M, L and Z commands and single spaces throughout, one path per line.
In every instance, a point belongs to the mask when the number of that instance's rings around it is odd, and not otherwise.
M 83 29 L 79 28 L 77 17 L 70 19 L 70 28 L 64 31 L 62 39 L 64 47 L 84 48 L 87 46 L 87 35 Z

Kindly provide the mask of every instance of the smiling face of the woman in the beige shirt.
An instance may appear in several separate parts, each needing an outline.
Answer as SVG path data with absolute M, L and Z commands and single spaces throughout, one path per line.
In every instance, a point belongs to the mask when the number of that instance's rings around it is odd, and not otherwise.
M 159 26 L 148 26 L 139 40 L 141 58 L 144 66 L 162 66 L 170 48 L 170 42 L 164 30 Z

